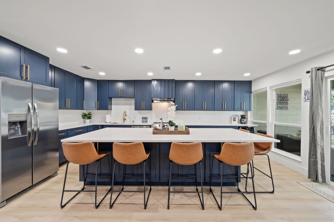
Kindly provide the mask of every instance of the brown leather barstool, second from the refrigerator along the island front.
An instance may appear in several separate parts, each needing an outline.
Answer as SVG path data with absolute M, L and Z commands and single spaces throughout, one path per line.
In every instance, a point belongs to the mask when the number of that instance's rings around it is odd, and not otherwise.
M 120 143 L 120 142 L 114 142 L 113 144 L 113 157 L 115 159 L 114 163 L 114 170 L 113 170 L 113 180 L 112 180 L 112 185 L 111 185 L 111 196 L 110 196 L 110 206 L 109 208 L 111 209 L 114 206 L 115 201 L 119 197 L 119 195 L 122 192 L 140 192 L 144 193 L 144 209 L 147 207 L 147 202 L 148 198 L 150 197 L 150 193 L 152 190 L 151 186 L 151 171 L 150 171 L 150 153 L 145 152 L 145 148 L 142 142 L 132 142 L 132 143 Z M 148 159 L 148 171 L 149 175 L 146 176 L 145 173 L 145 163 L 146 160 Z M 116 170 L 116 163 L 122 163 L 123 164 L 123 186 L 121 190 L 114 190 L 114 179 L 115 179 L 115 170 Z M 137 163 L 144 162 L 144 175 L 125 175 L 125 165 L 133 165 Z M 124 190 L 124 180 L 125 177 L 144 177 L 144 190 Z M 147 196 L 147 200 L 145 201 L 145 183 L 146 183 L 146 178 L 149 178 L 150 181 L 150 190 Z M 113 198 L 113 192 L 119 192 L 117 197 L 115 198 L 114 202 L 111 203 L 111 200 Z

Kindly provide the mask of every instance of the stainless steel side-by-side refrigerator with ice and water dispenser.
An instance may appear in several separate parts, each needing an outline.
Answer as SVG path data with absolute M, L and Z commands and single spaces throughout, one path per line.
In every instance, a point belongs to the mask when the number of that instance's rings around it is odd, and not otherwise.
M 0 77 L 0 207 L 58 171 L 58 89 Z

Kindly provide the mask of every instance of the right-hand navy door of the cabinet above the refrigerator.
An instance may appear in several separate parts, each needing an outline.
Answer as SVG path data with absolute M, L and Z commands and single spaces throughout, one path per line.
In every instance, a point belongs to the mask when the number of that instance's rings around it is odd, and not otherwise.
M 49 86 L 49 58 L 25 48 L 25 81 Z

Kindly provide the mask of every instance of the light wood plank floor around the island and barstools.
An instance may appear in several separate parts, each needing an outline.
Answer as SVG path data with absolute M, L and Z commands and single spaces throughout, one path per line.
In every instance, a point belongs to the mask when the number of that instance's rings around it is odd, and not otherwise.
M 266 164 L 263 156 L 255 157 L 255 166 L 267 166 Z M 66 169 L 64 165 L 59 168 L 56 177 L 0 208 L 0 221 L 334 221 L 334 203 L 297 183 L 311 180 L 275 161 L 272 161 L 272 168 L 275 193 L 257 194 L 258 210 L 253 210 L 240 194 L 224 194 L 223 209 L 219 211 L 208 187 L 204 187 L 205 210 L 200 208 L 197 194 L 181 193 L 171 194 L 170 210 L 167 210 L 168 187 L 152 187 L 146 210 L 143 207 L 142 193 L 121 194 L 113 209 L 109 209 L 110 195 L 95 209 L 94 193 L 81 193 L 65 208 L 60 209 Z M 70 164 L 68 189 L 81 188 L 78 170 L 77 165 Z M 242 181 L 241 184 L 244 184 L 244 180 Z M 257 190 L 271 185 L 270 179 L 259 172 L 256 172 L 255 181 Z M 100 196 L 108 190 L 105 186 L 98 188 Z M 215 191 L 219 196 L 219 188 L 215 188 Z M 252 194 L 247 195 L 253 200 Z

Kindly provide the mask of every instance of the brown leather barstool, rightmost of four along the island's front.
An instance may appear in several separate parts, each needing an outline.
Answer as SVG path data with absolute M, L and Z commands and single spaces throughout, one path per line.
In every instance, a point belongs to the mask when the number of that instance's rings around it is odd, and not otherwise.
M 225 142 L 221 148 L 220 154 L 212 154 L 212 165 L 211 165 L 211 176 L 210 176 L 210 192 L 213 195 L 214 200 L 216 201 L 219 210 L 222 208 L 222 194 L 223 193 L 241 193 L 241 195 L 250 203 L 254 210 L 257 209 L 257 203 L 256 203 L 256 196 L 255 196 L 255 189 L 254 189 L 254 178 L 253 178 L 253 168 L 251 161 L 254 157 L 254 143 L 253 142 L 245 142 L 245 143 L 230 143 Z M 220 205 L 216 199 L 216 197 L 213 194 L 212 188 L 211 188 L 211 181 L 212 181 L 212 167 L 213 167 L 213 159 L 216 159 L 219 161 L 220 164 Z M 235 176 L 223 176 L 223 163 L 236 166 L 236 174 Z M 239 166 L 247 164 L 247 175 L 246 175 L 246 185 L 245 185 L 245 191 L 241 191 L 239 189 L 239 182 L 238 182 L 238 172 L 239 172 Z M 251 176 L 248 177 L 249 173 L 249 166 L 251 169 Z M 222 192 L 223 187 L 223 178 L 236 178 L 237 183 L 237 192 Z M 247 178 L 252 178 L 252 184 L 253 184 L 253 191 L 249 192 L 247 191 Z M 248 200 L 248 198 L 244 195 L 244 193 L 253 193 L 254 194 L 254 200 L 255 204 L 253 205 L 251 201 Z

